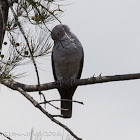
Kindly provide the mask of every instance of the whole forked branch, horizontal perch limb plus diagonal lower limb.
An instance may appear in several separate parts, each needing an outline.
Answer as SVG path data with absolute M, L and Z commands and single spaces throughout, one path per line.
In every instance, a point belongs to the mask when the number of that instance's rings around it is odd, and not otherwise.
M 89 85 L 89 84 L 97 84 L 97 83 L 106 83 L 106 82 L 113 82 L 113 81 L 125 81 L 125 80 L 134 80 L 134 79 L 140 79 L 140 73 L 135 74 L 124 74 L 124 75 L 114 75 L 114 76 L 92 76 L 91 78 L 87 79 L 80 79 L 76 80 L 72 86 L 82 86 L 82 85 Z M 59 126 L 63 127 L 65 130 L 67 130 L 74 138 L 77 140 L 81 140 L 79 137 L 77 137 L 67 126 L 56 120 L 54 117 L 61 117 L 60 115 L 51 115 L 49 114 L 45 109 L 41 107 L 41 105 L 33 99 L 26 91 L 33 92 L 38 91 L 39 86 L 38 85 L 25 85 L 18 83 L 14 80 L 2 80 L 0 79 L 1 84 L 19 91 L 23 96 L 25 96 L 36 108 L 38 108 L 42 113 L 44 113 L 47 117 L 49 117 L 53 122 L 58 124 Z M 66 86 L 70 87 L 69 84 L 66 84 Z M 49 90 L 49 89 L 55 89 L 59 88 L 59 86 L 55 82 L 51 83 L 45 83 L 40 85 L 41 90 Z

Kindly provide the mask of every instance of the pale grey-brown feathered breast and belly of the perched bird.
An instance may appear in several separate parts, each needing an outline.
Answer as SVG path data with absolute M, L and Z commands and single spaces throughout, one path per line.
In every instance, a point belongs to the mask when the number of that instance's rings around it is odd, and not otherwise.
M 73 75 L 77 76 L 82 58 L 81 48 L 64 47 L 53 51 L 56 77 L 69 80 Z

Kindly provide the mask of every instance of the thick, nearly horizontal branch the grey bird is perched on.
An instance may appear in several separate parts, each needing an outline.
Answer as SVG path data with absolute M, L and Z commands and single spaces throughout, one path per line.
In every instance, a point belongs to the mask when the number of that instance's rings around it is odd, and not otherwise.
M 114 82 L 114 81 L 126 81 L 126 80 L 135 80 L 140 79 L 140 73 L 135 74 L 123 74 L 123 75 L 113 75 L 113 76 L 97 76 L 97 77 L 90 77 L 87 79 L 77 79 L 73 83 L 73 85 L 66 84 L 66 87 L 70 86 L 82 86 L 82 85 L 91 85 L 91 84 L 98 84 L 98 83 L 107 83 L 107 82 Z M 13 90 L 16 90 L 16 87 L 21 87 L 26 92 L 34 92 L 39 90 L 38 85 L 26 85 L 19 82 L 16 82 L 14 80 L 5 80 L 3 81 L 0 79 L 1 84 L 4 84 L 5 86 L 12 88 Z M 50 89 L 57 89 L 60 86 L 57 85 L 55 82 L 45 83 L 41 84 L 40 88 L 41 91 L 43 90 L 50 90 Z

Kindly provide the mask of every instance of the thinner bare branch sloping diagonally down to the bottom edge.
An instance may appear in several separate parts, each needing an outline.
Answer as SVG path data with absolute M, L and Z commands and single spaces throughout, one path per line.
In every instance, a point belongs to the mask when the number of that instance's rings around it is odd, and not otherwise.
M 22 88 L 15 86 L 15 85 L 8 85 L 8 83 L 5 83 L 3 81 L 4 85 L 7 85 L 8 87 L 10 87 L 11 89 L 14 87 L 15 90 L 19 91 L 25 98 L 27 98 L 36 108 L 38 108 L 44 115 L 46 115 L 48 118 L 50 118 L 53 122 L 55 122 L 56 124 L 58 124 L 59 126 L 63 127 L 65 130 L 67 130 L 75 139 L 77 140 L 82 140 L 81 138 L 77 137 L 66 125 L 62 124 L 61 122 L 59 122 L 58 120 L 56 120 L 54 118 L 55 115 L 51 115 L 49 114 L 45 109 L 43 109 L 41 107 L 41 105 L 33 99 L 33 97 L 31 97 L 28 93 L 26 93 Z

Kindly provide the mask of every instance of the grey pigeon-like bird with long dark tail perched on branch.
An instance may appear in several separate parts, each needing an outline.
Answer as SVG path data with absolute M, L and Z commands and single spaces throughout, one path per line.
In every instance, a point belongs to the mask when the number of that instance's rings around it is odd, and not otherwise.
M 80 79 L 84 51 L 78 38 L 71 32 L 67 25 L 56 25 L 51 31 L 54 41 L 52 49 L 52 71 L 61 97 L 61 115 L 63 118 L 72 117 L 72 99 L 77 86 L 65 87 L 64 83 L 71 85 Z

